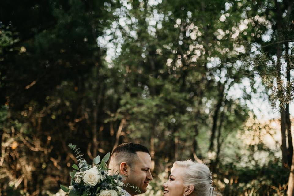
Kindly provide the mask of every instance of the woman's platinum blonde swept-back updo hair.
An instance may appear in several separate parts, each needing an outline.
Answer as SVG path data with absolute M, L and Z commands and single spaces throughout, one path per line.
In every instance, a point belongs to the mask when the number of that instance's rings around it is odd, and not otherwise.
M 206 164 L 193 162 L 192 160 L 176 161 L 173 167 L 184 168 L 182 175 L 183 185 L 188 187 L 194 186 L 194 191 L 191 195 L 194 196 L 221 196 L 212 188 L 210 170 Z

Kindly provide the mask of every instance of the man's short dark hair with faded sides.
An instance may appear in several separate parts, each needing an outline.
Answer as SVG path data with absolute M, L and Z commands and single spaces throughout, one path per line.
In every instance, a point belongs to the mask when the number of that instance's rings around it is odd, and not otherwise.
M 112 151 L 109 164 L 111 161 L 115 161 L 116 164 L 126 162 L 132 167 L 135 157 L 138 156 L 136 154 L 137 152 L 145 152 L 150 155 L 149 150 L 141 144 L 134 144 L 131 142 L 120 144 Z

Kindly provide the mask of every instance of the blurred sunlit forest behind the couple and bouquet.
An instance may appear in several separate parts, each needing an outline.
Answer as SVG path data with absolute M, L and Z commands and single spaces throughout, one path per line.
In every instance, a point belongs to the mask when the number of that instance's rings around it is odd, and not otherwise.
M 64 195 L 69 142 L 135 142 L 146 196 L 187 158 L 223 195 L 292 196 L 293 3 L 2 0 L 0 195 Z

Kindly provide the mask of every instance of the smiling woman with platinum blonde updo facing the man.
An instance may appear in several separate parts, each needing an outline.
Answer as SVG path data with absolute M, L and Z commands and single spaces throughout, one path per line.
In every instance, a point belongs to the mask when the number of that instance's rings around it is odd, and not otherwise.
M 221 196 L 214 191 L 207 165 L 191 160 L 176 161 L 163 187 L 164 196 Z

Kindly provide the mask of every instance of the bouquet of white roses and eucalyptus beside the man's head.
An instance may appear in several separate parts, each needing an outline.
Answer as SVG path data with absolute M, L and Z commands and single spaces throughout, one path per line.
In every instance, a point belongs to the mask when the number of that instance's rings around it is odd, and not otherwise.
M 101 162 L 100 157 L 97 156 L 94 158 L 93 164 L 89 165 L 82 158 L 83 155 L 80 155 L 79 148 L 76 149 L 76 145 L 70 143 L 68 146 L 76 153 L 79 165 L 72 166 L 75 170 L 70 171 L 70 186 L 67 188 L 60 185 L 64 192 L 67 192 L 69 196 L 125 196 L 123 176 L 108 175 L 109 169 L 106 162 L 110 153 L 107 153 Z

